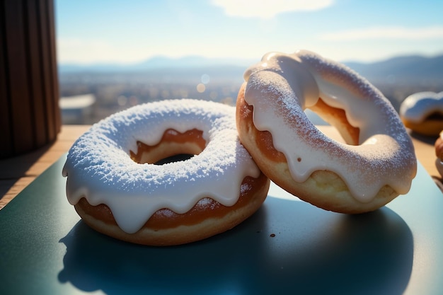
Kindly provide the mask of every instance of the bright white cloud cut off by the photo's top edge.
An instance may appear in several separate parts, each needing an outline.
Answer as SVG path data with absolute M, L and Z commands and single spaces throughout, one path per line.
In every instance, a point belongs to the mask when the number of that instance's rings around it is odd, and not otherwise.
M 224 8 L 228 16 L 273 18 L 288 11 L 313 11 L 326 8 L 333 0 L 212 0 L 212 4 Z

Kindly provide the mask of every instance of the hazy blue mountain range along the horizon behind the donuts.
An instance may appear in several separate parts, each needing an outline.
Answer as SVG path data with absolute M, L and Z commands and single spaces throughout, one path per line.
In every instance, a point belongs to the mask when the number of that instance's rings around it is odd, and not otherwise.
M 153 57 L 137 64 L 59 64 L 59 73 L 73 72 L 129 72 L 155 71 L 176 76 L 190 71 L 223 71 L 225 74 L 243 74 L 253 59 L 211 59 L 200 56 L 180 58 Z M 343 62 L 372 82 L 379 83 L 420 83 L 420 81 L 442 81 L 443 55 L 422 57 L 418 55 L 393 57 L 380 62 Z

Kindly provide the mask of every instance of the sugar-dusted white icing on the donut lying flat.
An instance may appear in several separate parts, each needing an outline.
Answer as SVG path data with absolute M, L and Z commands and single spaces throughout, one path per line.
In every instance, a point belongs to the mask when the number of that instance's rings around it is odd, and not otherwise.
M 202 130 L 205 149 L 162 166 L 132 161 L 137 141 L 155 145 L 169 128 Z M 137 105 L 93 125 L 69 150 L 63 175 L 71 204 L 81 197 L 106 204 L 118 226 L 134 233 L 162 208 L 185 213 L 204 197 L 232 206 L 243 178 L 260 170 L 238 139 L 234 107 L 183 99 Z

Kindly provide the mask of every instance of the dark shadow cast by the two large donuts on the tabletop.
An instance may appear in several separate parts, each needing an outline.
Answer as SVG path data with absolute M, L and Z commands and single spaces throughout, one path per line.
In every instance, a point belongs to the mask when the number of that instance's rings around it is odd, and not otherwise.
M 79 221 L 59 281 L 105 294 L 403 294 L 413 236 L 389 208 L 360 215 L 268 197 L 235 229 L 166 248 L 117 241 Z

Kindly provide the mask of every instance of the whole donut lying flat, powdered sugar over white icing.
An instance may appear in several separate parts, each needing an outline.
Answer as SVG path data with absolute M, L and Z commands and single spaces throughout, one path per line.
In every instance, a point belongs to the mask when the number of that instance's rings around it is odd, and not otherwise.
M 270 185 L 240 143 L 235 116 L 234 106 L 180 99 L 101 120 L 67 154 L 69 203 L 96 231 L 143 245 L 232 229 L 258 210 Z

